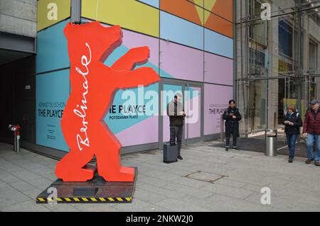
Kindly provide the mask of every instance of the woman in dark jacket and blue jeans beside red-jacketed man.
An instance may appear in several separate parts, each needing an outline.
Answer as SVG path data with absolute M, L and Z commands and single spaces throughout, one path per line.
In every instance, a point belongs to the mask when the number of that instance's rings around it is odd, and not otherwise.
M 284 115 L 284 132 L 287 135 L 287 143 L 289 147 L 289 163 L 293 162 L 294 152 L 296 151 L 297 136 L 302 126 L 302 118 L 294 106 L 289 106 L 287 113 Z

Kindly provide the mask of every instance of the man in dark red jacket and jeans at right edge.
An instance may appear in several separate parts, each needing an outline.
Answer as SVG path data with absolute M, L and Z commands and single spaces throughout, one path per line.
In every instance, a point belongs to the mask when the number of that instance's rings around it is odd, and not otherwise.
M 320 166 L 320 109 L 318 100 L 311 101 L 311 109 L 306 112 L 303 136 L 307 137 L 308 159 L 306 159 L 306 164 L 310 164 L 314 160 L 314 164 Z M 315 155 L 313 153 L 314 142 L 316 144 Z

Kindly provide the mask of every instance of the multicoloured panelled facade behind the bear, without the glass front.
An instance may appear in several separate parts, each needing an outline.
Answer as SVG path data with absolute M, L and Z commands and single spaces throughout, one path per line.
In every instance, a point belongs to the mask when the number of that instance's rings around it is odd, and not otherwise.
M 35 130 L 22 126 L 24 147 L 53 157 L 69 151 L 60 119 L 70 94 L 70 62 L 63 33 L 70 21 L 121 26 L 122 45 L 104 64 L 111 66 L 132 47 L 147 46 L 149 61 L 137 67 L 152 67 L 161 77 L 159 83 L 119 90 L 114 96 L 104 120 L 122 143 L 123 154 L 161 148 L 169 141 L 166 104 L 176 92 L 183 94 L 184 108 L 190 113 L 183 143 L 220 134 L 220 114 L 233 98 L 232 0 L 37 3 L 36 70 L 31 73 L 35 79 Z M 142 114 L 139 109 L 144 109 Z M 126 115 L 126 111 L 132 114 Z M 26 133 L 33 137 L 25 139 Z

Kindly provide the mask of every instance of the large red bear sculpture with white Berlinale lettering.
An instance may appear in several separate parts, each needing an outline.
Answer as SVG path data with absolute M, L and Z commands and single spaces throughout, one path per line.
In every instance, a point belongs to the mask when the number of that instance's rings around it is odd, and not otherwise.
M 87 181 L 94 169 L 86 164 L 97 159 L 97 171 L 106 181 L 133 181 L 134 169 L 120 162 L 122 147 L 104 122 L 117 89 L 156 83 L 159 75 L 150 67 L 134 69 L 149 58 L 148 47 L 129 50 L 112 67 L 103 62 L 122 43 L 119 26 L 99 22 L 64 29 L 70 58 L 71 92 L 60 125 L 70 152 L 58 162 L 55 175 L 63 181 Z

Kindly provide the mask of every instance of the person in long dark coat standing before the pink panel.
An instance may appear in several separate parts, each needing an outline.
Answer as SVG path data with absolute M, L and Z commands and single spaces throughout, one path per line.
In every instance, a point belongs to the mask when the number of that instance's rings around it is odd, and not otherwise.
M 229 108 L 223 113 L 223 119 L 225 120 L 225 151 L 228 152 L 230 148 L 230 137 L 233 135 L 233 149 L 237 148 L 237 138 L 239 137 L 239 121 L 241 115 L 238 108 L 235 107 L 235 101 L 229 101 Z

